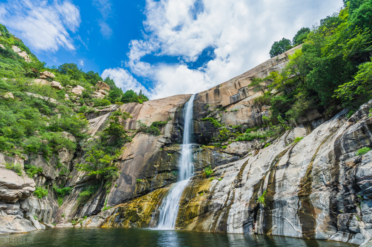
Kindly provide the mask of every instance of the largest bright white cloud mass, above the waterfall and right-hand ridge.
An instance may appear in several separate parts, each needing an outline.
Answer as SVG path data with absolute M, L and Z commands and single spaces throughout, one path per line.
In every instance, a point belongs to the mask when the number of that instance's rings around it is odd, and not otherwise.
M 274 41 L 292 39 L 343 5 L 342 0 L 146 0 L 144 36 L 129 43 L 125 65 L 154 84 L 151 98 L 196 93 L 269 59 Z M 212 47 L 201 66 L 190 65 Z M 151 64 L 144 56 L 178 57 Z

